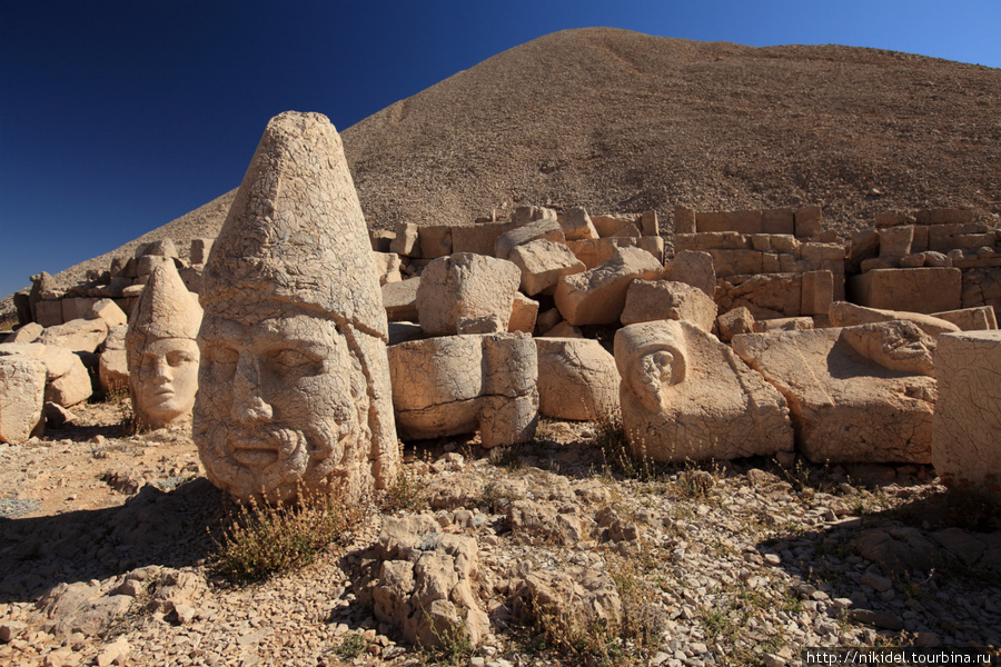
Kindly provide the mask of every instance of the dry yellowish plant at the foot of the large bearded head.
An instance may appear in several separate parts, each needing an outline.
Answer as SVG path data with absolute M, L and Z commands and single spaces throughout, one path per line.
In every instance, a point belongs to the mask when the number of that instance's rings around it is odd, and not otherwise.
M 347 508 L 335 495 L 299 494 L 289 504 L 251 499 L 224 520 L 210 567 L 237 583 L 259 581 L 303 567 L 360 520 L 360 505 Z

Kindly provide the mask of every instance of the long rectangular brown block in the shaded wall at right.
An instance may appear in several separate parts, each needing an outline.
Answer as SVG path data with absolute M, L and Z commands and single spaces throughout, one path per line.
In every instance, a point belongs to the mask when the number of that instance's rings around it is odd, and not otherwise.
M 875 269 L 849 279 L 851 301 L 869 308 L 939 312 L 962 308 L 957 268 Z

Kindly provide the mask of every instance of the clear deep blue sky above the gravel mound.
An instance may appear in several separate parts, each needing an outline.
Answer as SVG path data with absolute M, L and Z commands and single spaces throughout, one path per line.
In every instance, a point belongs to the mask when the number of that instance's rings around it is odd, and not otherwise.
M 0 297 L 235 188 L 276 113 L 345 129 L 591 26 L 1001 67 L 1001 0 L 0 0 Z

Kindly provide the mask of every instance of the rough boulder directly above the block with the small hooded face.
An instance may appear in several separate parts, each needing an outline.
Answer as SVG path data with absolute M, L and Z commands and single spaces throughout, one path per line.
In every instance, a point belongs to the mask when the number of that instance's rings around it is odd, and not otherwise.
M 716 305 L 701 289 L 671 280 L 634 280 L 626 291 L 623 325 L 652 320 L 686 320 L 712 331 Z

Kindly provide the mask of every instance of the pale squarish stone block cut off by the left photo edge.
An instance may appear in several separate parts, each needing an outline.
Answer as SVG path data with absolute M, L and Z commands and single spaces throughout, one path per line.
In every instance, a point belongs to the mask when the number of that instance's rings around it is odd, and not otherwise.
M 0 357 L 0 442 L 20 445 L 44 432 L 46 366 L 21 356 Z

